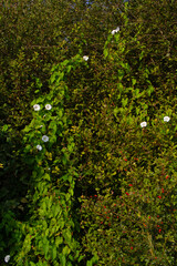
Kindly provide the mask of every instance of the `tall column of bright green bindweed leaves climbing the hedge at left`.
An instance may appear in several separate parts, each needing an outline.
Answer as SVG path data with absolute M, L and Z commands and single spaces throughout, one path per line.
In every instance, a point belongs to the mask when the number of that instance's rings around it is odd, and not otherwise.
M 83 60 L 75 57 L 69 69 L 77 61 Z M 70 124 L 63 106 L 67 86 L 63 82 L 62 68 L 66 63 L 64 61 L 52 69 L 51 91 L 31 103 L 33 120 L 24 129 L 24 161 L 33 167 L 27 195 L 31 217 L 24 224 L 23 245 L 14 258 L 17 265 L 45 262 L 46 265 L 64 266 L 79 258 L 79 243 L 72 237 L 74 222 L 71 217 L 76 172 L 70 156 L 74 142 L 64 136 Z M 67 147 L 63 146 L 66 143 Z

